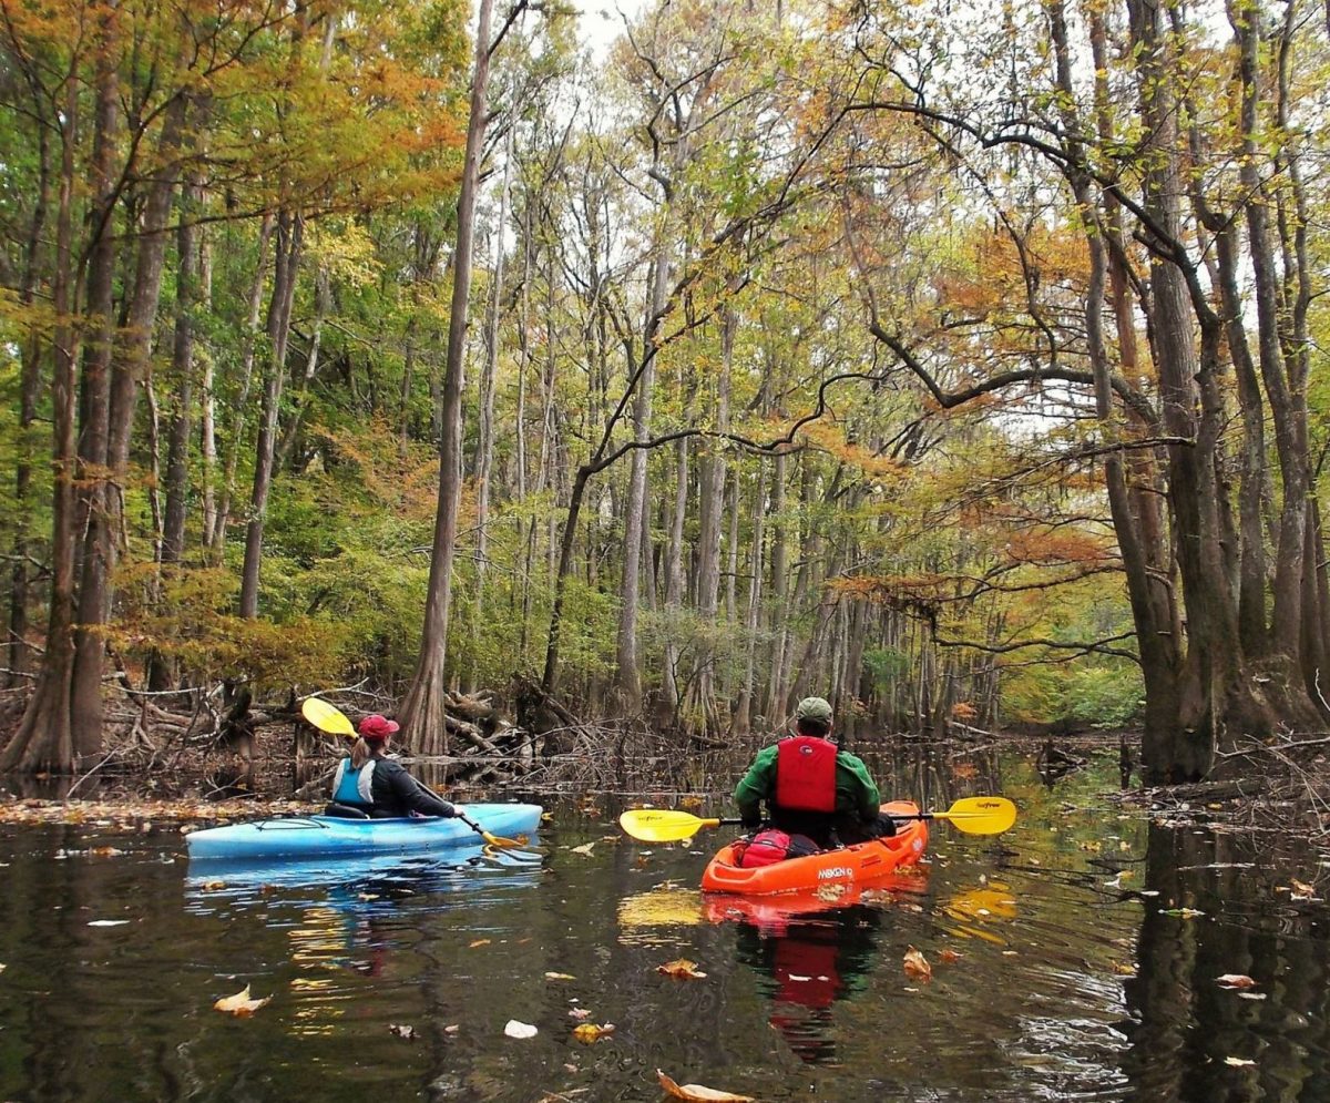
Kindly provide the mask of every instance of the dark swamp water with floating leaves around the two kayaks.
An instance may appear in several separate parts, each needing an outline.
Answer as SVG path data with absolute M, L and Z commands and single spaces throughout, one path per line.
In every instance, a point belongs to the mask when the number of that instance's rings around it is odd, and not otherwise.
M 1327 913 L 1294 898 L 1330 856 L 1124 810 L 1116 754 L 1052 788 L 1017 752 L 876 770 L 1020 820 L 939 825 L 870 905 L 746 918 L 696 889 L 721 836 L 638 845 L 608 800 L 555 808 L 532 864 L 247 879 L 173 829 L 0 828 L 0 1100 L 658 1100 L 657 1068 L 762 1100 L 1330 1100 Z M 681 957 L 705 979 L 657 973 Z M 213 1010 L 246 985 L 271 1002 Z M 575 1040 L 576 1009 L 613 1035 Z

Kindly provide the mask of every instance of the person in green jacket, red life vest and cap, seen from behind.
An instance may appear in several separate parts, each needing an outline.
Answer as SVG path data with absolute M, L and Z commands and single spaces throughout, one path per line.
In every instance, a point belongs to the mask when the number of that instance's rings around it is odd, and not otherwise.
M 794 712 L 794 736 L 765 746 L 734 789 L 739 818 L 749 829 L 762 822 L 802 834 L 822 848 L 895 834 L 879 812 L 878 786 L 858 756 L 837 749 L 831 705 L 805 697 Z

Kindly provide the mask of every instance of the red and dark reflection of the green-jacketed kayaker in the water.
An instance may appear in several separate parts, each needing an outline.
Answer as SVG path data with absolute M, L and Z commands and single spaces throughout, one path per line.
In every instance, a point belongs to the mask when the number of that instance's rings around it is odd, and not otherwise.
M 738 959 L 763 974 L 763 995 L 771 1001 L 767 1022 L 801 1060 L 835 1060 L 831 1007 L 862 989 L 876 949 L 876 926 L 871 909 L 779 926 L 738 925 Z

